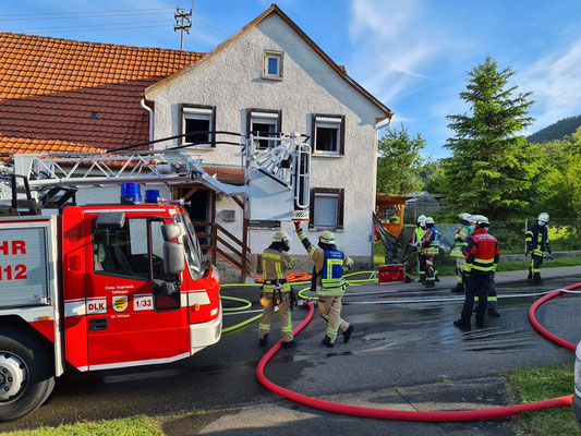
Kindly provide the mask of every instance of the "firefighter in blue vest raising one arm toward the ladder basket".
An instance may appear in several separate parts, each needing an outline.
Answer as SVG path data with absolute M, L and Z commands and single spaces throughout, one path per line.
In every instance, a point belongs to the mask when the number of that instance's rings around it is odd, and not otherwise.
M 342 298 L 346 290 L 343 274 L 353 267 L 353 261 L 335 245 L 335 234 L 324 231 L 318 237 L 318 246 L 311 244 L 301 223 L 294 223 L 296 234 L 308 256 L 315 264 L 313 284 L 318 299 L 318 314 L 327 322 L 327 334 L 322 343 L 332 348 L 337 334 L 343 335 L 343 342 L 349 342 L 353 326 L 341 319 Z

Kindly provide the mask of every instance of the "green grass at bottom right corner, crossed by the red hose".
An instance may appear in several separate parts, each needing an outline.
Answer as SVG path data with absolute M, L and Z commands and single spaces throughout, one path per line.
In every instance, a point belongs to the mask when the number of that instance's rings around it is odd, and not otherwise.
M 516 370 L 507 375 L 515 402 L 534 402 L 573 393 L 573 363 Z M 581 436 L 571 407 L 523 413 L 520 431 L 531 436 Z

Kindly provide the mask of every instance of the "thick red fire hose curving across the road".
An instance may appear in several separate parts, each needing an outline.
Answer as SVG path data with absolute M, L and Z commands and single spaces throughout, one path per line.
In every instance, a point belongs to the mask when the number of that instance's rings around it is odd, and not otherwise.
M 558 338 L 557 336 L 550 334 L 544 329 L 536 320 L 535 312 L 536 308 L 543 304 L 545 301 L 550 300 L 554 296 L 559 295 L 561 292 L 572 291 L 574 289 L 581 288 L 581 283 L 572 284 L 561 290 L 554 291 L 538 301 L 536 301 L 529 312 L 529 317 L 534 328 L 545 335 L 547 338 L 556 341 L 562 347 L 570 348 L 572 350 L 576 347 L 565 340 Z M 307 317 L 293 330 L 293 335 L 296 335 L 301 331 L 313 318 L 314 305 L 308 305 L 308 315 Z M 261 384 L 263 384 L 267 389 L 271 390 L 275 393 L 278 393 L 281 397 L 285 397 L 289 400 L 313 407 L 316 409 L 326 410 L 335 413 L 349 414 L 354 416 L 365 416 L 365 417 L 376 417 L 383 420 L 401 420 L 401 421 L 424 421 L 424 422 L 445 422 L 445 421 L 481 421 L 481 420 L 493 420 L 499 417 L 507 417 L 520 414 L 522 412 L 531 412 L 536 410 L 547 409 L 549 407 L 561 407 L 561 405 L 571 405 L 572 395 L 559 398 L 553 398 L 549 400 L 537 401 L 526 404 L 517 404 L 509 407 L 501 407 L 495 409 L 481 409 L 481 410 L 468 410 L 468 411 L 445 411 L 445 412 L 412 412 L 412 411 L 401 411 L 401 410 L 390 410 L 390 409 L 374 409 L 374 408 L 363 408 L 349 404 L 340 404 L 330 401 L 319 400 L 317 398 L 303 396 L 298 392 L 293 392 L 289 389 L 282 388 L 278 385 L 275 385 L 273 382 L 266 378 L 264 375 L 264 368 L 273 355 L 280 349 L 281 341 L 277 342 L 268 352 L 261 359 L 258 367 L 256 368 L 256 376 Z M 570 347 L 569 347 L 570 346 Z

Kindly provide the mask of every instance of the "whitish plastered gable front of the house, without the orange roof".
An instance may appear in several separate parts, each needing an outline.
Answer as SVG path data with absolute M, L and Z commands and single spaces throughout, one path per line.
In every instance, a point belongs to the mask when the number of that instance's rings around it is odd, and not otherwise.
M 340 247 L 360 265 L 370 265 L 375 125 L 390 116 L 389 109 L 352 81 L 278 8 L 270 8 L 201 61 L 152 85 L 144 96 L 154 108 L 155 138 L 205 126 L 307 134 L 312 146 L 308 237 L 315 242 L 318 232 L 332 230 Z M 161 146 L 183 145 L 187 140 Z M 195 140 L 199 138 L 192 136 Z M 204 140 L 208 143 L 190 148 L 204 165 L 240 165 L 237 147 Z M 211 195 L 201 201 L 211 203 Z M 221 226 L 234 234 L 243 231 L 242 210 L 231 198 L 218 198 L 204 209 L 213 207 Z M 226 216 L 221 215 L 225 210 Z M 277 229 L 290 233 L 293 226 L 251 221 L 250 250 L 262 253 Z M 304 255 L 304 249 L 293 244 L 291 253 Z

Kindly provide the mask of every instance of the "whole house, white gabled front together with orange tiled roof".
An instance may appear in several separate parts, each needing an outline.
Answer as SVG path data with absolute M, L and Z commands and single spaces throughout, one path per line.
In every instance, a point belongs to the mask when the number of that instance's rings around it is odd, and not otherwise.
M 391 112 L 278 7 L 208 53 L 0 34 L 0 153 L 102 150 L 185 134 L 155 147 L 197 144 L 189 150 L 208 173 L 242 184 L 240 147 L 194 132 L 304 133 L 313 153 L 311 222 L 303 227 L 312 242 L 322 230 L 335 231 L 360 266 L 372 262 L 375 126 Z M 191 202 L 202 243 L 213 252 L 217 228 L 238 238 L 254 262 L 274 231 L 293 229 L 249 221 L 242 198 L 195 183 L 162 195 Z M 90 189 L 77 197 L 85 199 L 117 201 L 118 192 Z M 299 268 L 310 270 L 302 246 L 291 246 L 304 262 Z

